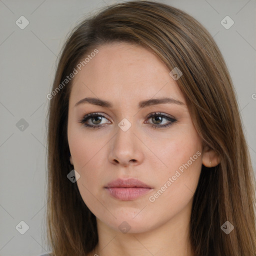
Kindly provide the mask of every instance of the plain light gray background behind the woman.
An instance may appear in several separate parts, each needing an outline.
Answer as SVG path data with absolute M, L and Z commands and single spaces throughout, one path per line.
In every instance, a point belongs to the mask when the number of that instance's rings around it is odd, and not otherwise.
M 82 17 L 114 0 L 0 0 L 0 255 L 37 255 L 45 243 L 45 116 L 56 56 Z M 162 0 L 191 14 L 211 33 L 230 71 L 256 167 L 256 0 Z M 20 29 L 15 21 L 25 16 Z M 220 21 L 230 16 L 225 29 Z M 253 96 L 254 95 L 254 96 Z M 254 97 L 254 99 L 253 99 Z M 16 123 L 25 119 L 28 127 Z M 21 128 L 21 126 L 20 126 Z M 16 225 L 25 221 L 22 235 Z M 24 227 L 24 226 L 23 226 Z

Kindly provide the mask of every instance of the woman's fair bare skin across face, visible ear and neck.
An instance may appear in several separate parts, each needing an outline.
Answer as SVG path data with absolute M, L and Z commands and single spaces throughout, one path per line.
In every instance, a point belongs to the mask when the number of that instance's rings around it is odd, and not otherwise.
M 73 78 L 68 109 L 70 162 L 79 173 L 82 199 L 96 216 L 99 242 L 90 255 L 192 255 L 188 225 L 193 194 L 201 165 L 214 166 L 219 159 L 203 148 L 187 105 L 169 69 L 141 46 L 118 42 L 98 47 L 99 52 Z M 138 107 L 150 98 L 172 97 L 184 103 L 161 103 Z M 112 107 L 90 103 L 75 105 L 84 97 L 108 100 Z M 85 114 L 104 117 L 79 122 Z M 161 112 L 176 119 L 147 118 Z M 118 123 L 131 126 L 123 131 Z M 159 117 L 158 117 L 159 118 Z M 200 155 L 163 193 L 149 201 L 175 171 L 199 151 Z M 111 197 L 104 186 L 116 178 L 137 178 L 153 189 L 134 200 Z M 165 185 L 166 186 L 166 185 Z M 127 233 L 118 226 L 126 221 Z

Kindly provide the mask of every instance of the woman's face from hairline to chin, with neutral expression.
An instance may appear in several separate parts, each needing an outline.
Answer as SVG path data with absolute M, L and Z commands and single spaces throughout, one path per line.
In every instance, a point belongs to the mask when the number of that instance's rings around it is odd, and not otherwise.
M 77 69 L 69 98 L 68 144 L 82 199 L 122 232 L 188 217 L 202 144 L 176 76 L 141 46 L 97 49 Z

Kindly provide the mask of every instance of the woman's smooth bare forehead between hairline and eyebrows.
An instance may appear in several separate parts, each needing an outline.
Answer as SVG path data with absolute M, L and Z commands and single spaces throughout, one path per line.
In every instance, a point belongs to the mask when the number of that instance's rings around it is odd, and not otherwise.
M 113 102 L 121 97 L 126 103 L 160 96 L 184 101 L 170 70 L 153 52 L 126 42 L 105 44 L 97 50 L 93 57 L 87 53 L 90 58 L 73 78 L 72 105 L 85 96 Z

